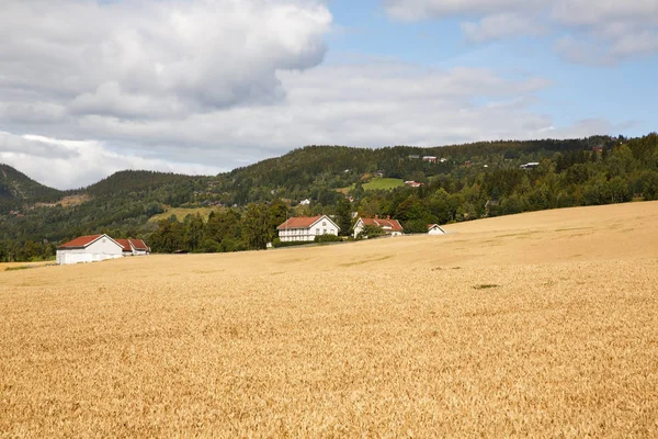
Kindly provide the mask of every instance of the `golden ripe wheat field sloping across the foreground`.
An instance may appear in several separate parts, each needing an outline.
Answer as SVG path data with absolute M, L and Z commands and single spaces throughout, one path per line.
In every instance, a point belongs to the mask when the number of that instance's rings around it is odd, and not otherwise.
M 658 203 L 0 272 L 2 437 L 658 437 Z

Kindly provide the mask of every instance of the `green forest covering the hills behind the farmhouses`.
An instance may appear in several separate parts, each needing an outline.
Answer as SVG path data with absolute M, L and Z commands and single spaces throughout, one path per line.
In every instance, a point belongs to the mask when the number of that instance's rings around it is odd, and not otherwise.
M 520 168 L 527 162 L 538 165 Z M 8 168 L 2 168 L 5 175 Z M 143 238 L 159 252 L 239 251 L 265 248 L 279 224 L 302 214 L 332 215 L 343 235 L 350 232 L 352 212 L 390 215 L 407 233 L 424 233 L 430 223 L 656 200 L 658 135 L 436 148 L 307 146 L 214 177 L 123 171 L 66 193 L 29 179 L 18 184 L 29 190 L 18 191 L 12 176 L 0 180 L 0 261 L 48 259 L 58 244 L 91 233 Z M 422 184 L 363 188 L 381 177 Z M 72 206 L 54 202 L 71 194 L 86 194 L 88 201 Z M 299 206 L 304 199 L 310 205 Z M 20 215 L 8 211 L 16 204 Z M 216 212 L 202 217 L 194 214 L 200 206 L 215 206 Z M 192 214 L 182 222 L 175 216 L 149 221 L 171 207 L 189 207 Z

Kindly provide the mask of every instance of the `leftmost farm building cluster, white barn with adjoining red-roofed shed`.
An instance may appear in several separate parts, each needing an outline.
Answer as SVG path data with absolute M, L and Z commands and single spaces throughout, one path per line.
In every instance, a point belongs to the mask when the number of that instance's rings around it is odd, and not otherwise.
M 105 234 L 90 235 L 57 247 L 57 263 L 68 266 L 149 254 L 150 248 L 141 239 L 113 239 Z

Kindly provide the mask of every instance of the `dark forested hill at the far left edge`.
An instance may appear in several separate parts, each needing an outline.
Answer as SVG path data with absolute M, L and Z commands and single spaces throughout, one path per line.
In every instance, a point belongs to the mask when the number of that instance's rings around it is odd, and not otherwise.
M 11 166 L 0 164 L 0 214 L 25 204 L 54 202 L 63 196 L 57 189 L 32 180 Z

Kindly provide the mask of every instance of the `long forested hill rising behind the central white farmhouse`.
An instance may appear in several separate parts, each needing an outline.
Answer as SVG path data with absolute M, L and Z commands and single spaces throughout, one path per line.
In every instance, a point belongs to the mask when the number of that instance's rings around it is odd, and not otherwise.
M 217 189 L 225 194 L 234 194 L 232 199 L 224 200 L 231 204 L 271 200 L 272 191 L 274 198 L 320 200 L 322 193 L 327 195 L 327 191 L 350 187 L 364 179 L 364 176 L 367 178 L 378 171 L 388 178 L 424 182 L 467 161 L 518 167 L 523 162 L 552 157 L 556 153 L 591 150 L 593 147 L 611 149 L 617 142 L 616 137 L 592 136 L 568 140 L 478 142 L 432 148 L 307 146 L 219 176 Z M 409 159 L 410 156 L 434 156 L 444 161 L 429 164 L 421 159 Z

